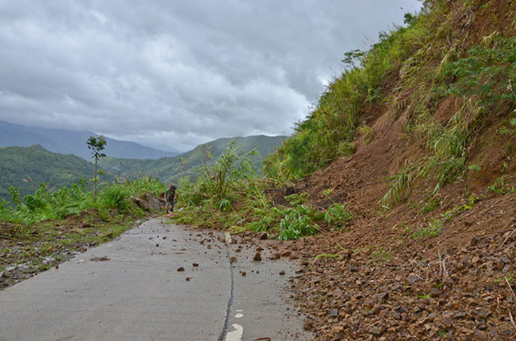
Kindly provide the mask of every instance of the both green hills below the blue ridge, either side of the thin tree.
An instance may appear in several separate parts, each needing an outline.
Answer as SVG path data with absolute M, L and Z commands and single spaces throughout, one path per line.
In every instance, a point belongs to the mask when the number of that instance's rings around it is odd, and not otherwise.
M 253 167 L 259 173 L 262 159 L 273 152 L 284 138 L 285 136 L 219 138 L 198 145 L 181 156 L 160 159 L 105 157 L 100 159 L 99 165 L 100 168 L 107 170 L 107 173 L 100 176 L 100 181 L 109 181 L 118 175 L 128 177 L 152 175 L 159 177 L 162 182 L 178 182 L 181 177 L 188 175 L 195 177 L 195 167 L 204 164 L 204 161 L 217 161 L 231 141 L 236 142 L 240 153 L 257 149 L 259 154 L 253 159 Z M 209 160 L 206 157 L 206 150 L 211 154 Z M 3 147 L 0 148 L 0 175 L 0 200 L 9 200 L 8 189 L 11 186 L 18 187 L 23 197 L 33 194 L 34 189 L 42 182 L 56 189 L 70 186 L 83 177 L 91 179 L 93 164 L 74 154 L 50 152 L 38 144 L 29 147 Z

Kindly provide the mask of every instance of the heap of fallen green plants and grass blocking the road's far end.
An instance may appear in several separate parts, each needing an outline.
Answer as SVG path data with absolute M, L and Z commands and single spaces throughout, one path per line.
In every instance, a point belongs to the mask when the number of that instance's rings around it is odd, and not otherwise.
M 181 182 L 174 221 L 230 228 L 233 232 L 271 232 L 278 239 L 287 240 L 314 235 L 321 230 L 322 222 L 340 228 L 353 219 L 337 203 L 328 210 L 311 207 L 305 193 L 287 197 L 289 206 L 273 205 L 266 191 L 274 182 L 252 171 L 252 154 L 238 154 L 232 143 L 215 164 L 206 163 L 197 169 L 199 177 L 195 182 Z

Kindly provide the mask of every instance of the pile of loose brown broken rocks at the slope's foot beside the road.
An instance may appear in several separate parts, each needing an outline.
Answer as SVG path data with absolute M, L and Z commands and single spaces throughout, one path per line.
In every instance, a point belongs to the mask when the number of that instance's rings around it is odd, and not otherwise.
M 432 260 L 408 247 L 383 260 L 349 251 L 313 259 L 293 280 L 305 328 L 318 340 L 514 340 L 511 232 Z

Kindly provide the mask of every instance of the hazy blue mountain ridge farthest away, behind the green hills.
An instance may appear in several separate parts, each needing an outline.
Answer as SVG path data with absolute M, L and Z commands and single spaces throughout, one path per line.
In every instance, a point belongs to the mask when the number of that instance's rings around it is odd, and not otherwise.
M 29 145 L 38 144 L 51 152 L 75 154 L 78 157 L 90 160 L 91 150 L 86 145 L 89 136 L 97 137 L 98 134 L 87 131 L 15 125 L 0 120 L 0 148 L 12 146 L 28 147 Z M 106 142 L 105 152 L 110 157 L 159 159 L 160 157 L 174 157 L 179 154 L 179 152 L 165 152 L 164 150 L 157 150 L 138 143 L 119 141 L 108 137 L 106 137 Z

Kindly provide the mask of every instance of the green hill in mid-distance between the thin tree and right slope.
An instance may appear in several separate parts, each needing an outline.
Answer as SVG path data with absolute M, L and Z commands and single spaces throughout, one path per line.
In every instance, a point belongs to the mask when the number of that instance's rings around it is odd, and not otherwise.
M 181 177 L 192 175 L 195 177 L 195 167 L 204 161 L 216 161 L 227 148 L 231 141 L 235 140 L 238 151 L 245 153 L 257 148 L 258 155 L 255 158 L 254 168 L 261 173 L 261 161 L 274 148 L 282 143 L 284 136 L 248 136 L 238 138 L 219 138 L 218 140 L 198 145 L 190 152 L 177 157 L 165 157 L 162 159 L 116 159 L 106 157 L 100 159 L 100 166 L 112 175 L 153 175 L 160 177 L 163 182 L 178 182 Z M 211 154 L 211 159 L 206 156 L 206 150 Z M 181 162 L 182 160 L 182 162 Z

